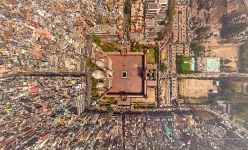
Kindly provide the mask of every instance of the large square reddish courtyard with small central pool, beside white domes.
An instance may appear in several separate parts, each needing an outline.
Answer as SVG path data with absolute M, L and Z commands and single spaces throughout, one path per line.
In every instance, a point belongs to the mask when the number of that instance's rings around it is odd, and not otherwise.
M 145 55 L 143 53 L 107 53 L 112 61 L 112 88 L 107 96 L 126 95 L 141 97 L 145 95 Z

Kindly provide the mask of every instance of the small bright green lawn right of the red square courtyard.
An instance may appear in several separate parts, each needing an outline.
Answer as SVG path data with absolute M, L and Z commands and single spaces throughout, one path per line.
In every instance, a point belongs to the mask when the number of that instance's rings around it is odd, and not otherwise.
M 177 57 L 177 71 L 182 74 L 193 73 L 191 70 L 191 57 L 178 56 Z

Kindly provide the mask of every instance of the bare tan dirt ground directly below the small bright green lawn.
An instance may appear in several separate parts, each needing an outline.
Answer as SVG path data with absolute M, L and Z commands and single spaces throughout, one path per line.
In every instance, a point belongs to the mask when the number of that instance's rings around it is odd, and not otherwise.
M 208 97 L 210 90 L 217 90 L 213 80 L 185 79 L 179 81 L 179 95 L 188 98 Z

